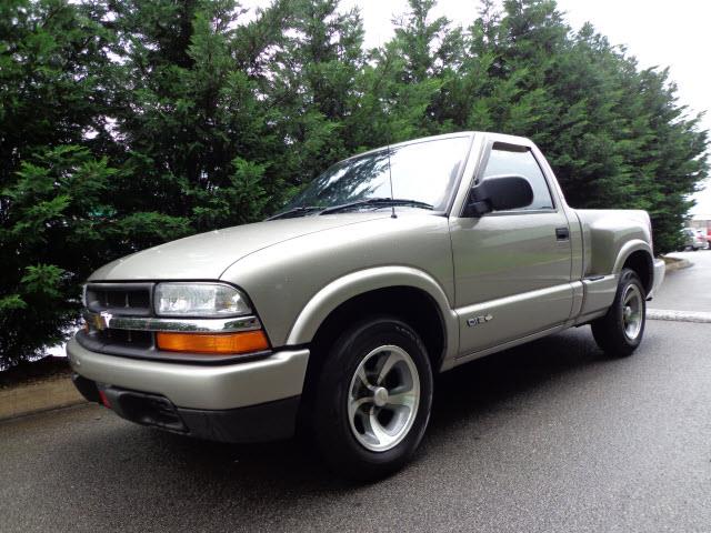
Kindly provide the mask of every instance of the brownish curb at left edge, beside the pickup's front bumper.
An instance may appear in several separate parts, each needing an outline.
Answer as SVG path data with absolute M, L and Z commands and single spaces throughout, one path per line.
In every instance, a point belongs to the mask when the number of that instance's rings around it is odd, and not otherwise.
M 0 420 L 86 402 L 69 376 L 0 389 Z

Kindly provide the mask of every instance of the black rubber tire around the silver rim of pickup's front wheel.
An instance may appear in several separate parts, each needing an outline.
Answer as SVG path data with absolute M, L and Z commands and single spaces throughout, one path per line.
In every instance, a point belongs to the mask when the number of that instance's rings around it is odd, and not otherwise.
M 371 451 L 356 436 L 356 429 L 352 429 L 354 423 L 351 423 L 349 416 L 349 401 L 361 363 L 365 364 L 369 354 L 385 345 L 398 346 L 409 355 L 410 363 L 414 363 L 405 370 L 411 372 L 412 368 L 417 369 L 419 403 L 417 409 L 409 411 L 414 413 L 414 418 L 409 430 L 403 430 L 399 443 L 384 451 Z M 313 408 L 312 428 L 316 441 L 329 466 L 340 475 L 361 481 L 381 479 L 401 469 L 411 459 L 424 435 L 432 408 L 432 383 L 427 349 L 419 335 L 404 322 L 381 316 L 360 322 L 346 331 L 327 354 L 318 376 Z M 374 403 L 372 405 L 373 409 L 388 409 L 374 408 Z M 363 409 L 370 408 L 365 405 Z

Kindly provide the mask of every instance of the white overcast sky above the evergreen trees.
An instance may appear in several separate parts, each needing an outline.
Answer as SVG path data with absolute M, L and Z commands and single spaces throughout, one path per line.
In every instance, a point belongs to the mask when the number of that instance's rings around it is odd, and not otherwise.
M 267 0 L 243 0 L 264 6 Z M 341 0 L 344 9 L 360 7 L 365 46 L 377 47 L 393 34 L 392 18 L 408 9 L 407 0 Z M 624 44 L 640 67 L 669 67 L 679 89 L 679 103 L 690 112 L 707 111 L 702 128 L 711 130 L 711 2 L 705 0 L 558 0 L 573 29 L 585 21 L 612 44 Z M 479 0 L 439 0 L 433 17 L 469 26 L 478 14 Z M 505 132 L 503 132 L 505 133 Z M 711 184 L 695 195 L 692 212 L 711 218 Z

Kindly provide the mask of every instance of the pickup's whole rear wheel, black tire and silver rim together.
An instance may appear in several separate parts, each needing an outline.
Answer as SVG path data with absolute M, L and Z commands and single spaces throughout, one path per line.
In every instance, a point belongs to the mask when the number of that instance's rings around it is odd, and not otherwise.
M 595 342 L 608 355 L 627 356 L 640 345 L 647 321 L 645 300 L 637 272 L 623 269 L 608 313 L 591 324 Z

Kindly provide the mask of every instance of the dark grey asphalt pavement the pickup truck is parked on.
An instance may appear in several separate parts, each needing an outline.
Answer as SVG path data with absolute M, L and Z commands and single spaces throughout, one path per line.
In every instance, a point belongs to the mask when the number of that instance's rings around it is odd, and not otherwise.
M 453 370 L 415 461 L 371 485 L 293 442 L 193 441 L 96 405 L 2 422 L 0 531 L 708 532 L 710 344 L 711 324 L 649 321 L 607 360 L 584 326 Z

